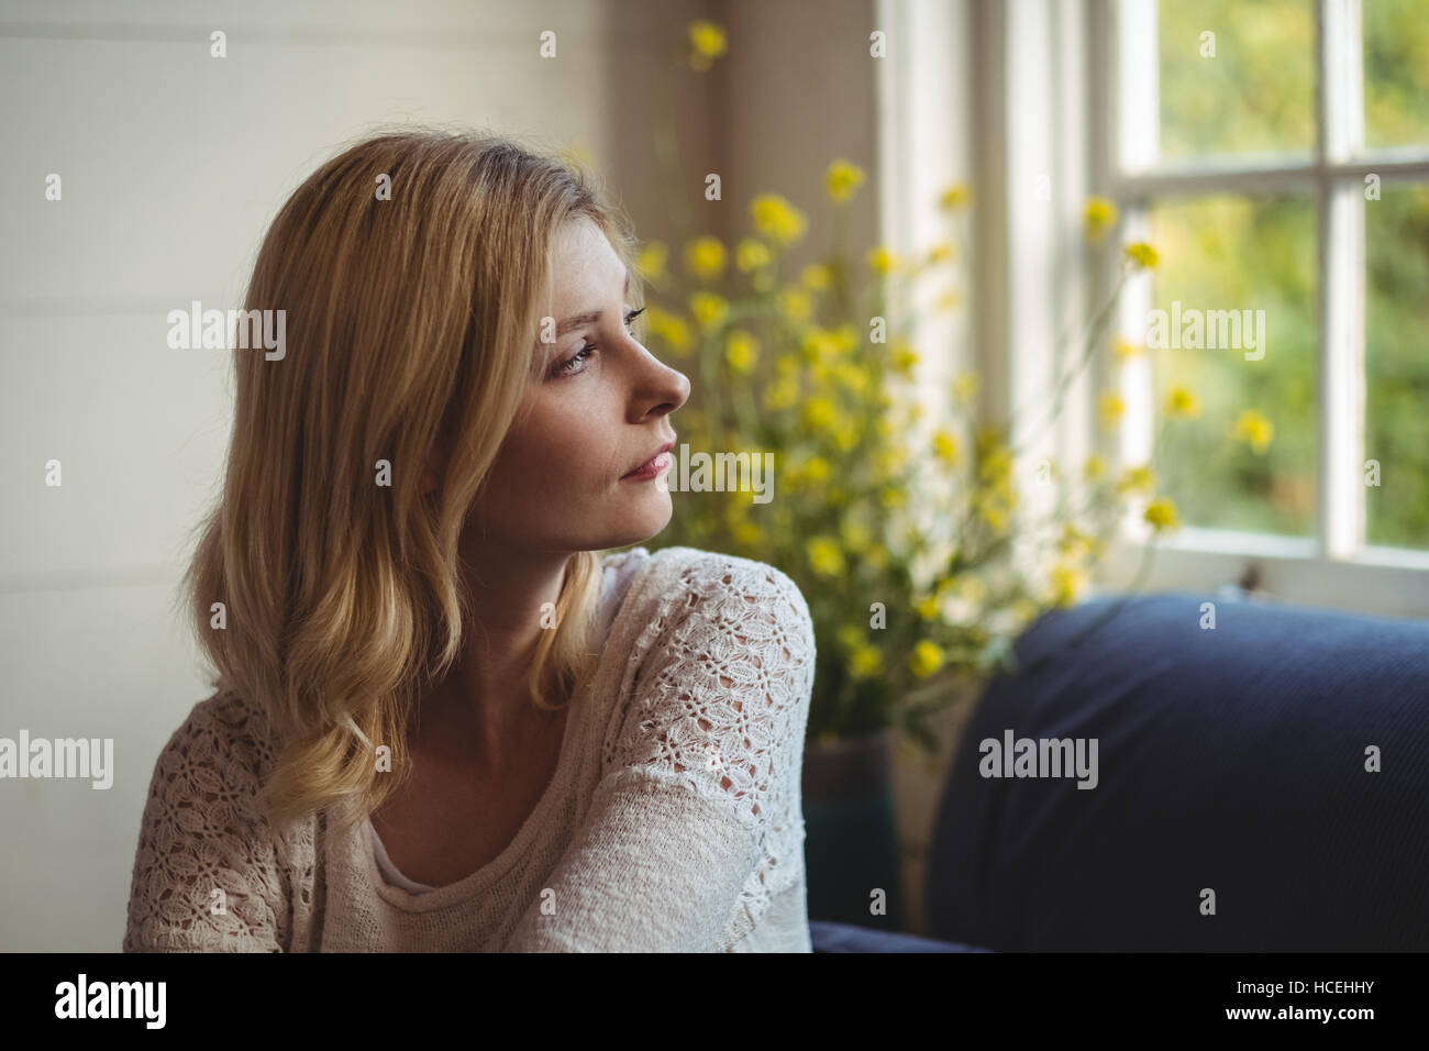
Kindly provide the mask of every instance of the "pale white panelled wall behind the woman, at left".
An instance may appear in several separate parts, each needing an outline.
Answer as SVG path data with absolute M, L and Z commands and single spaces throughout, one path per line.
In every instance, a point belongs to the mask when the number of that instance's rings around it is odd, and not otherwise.
M 154 758 L 207 695 L 170 606 L 220 479 L 229 355 L 170 350 L 166 313 L 237 306 L 286 194 L 373 123 L 620 156 L 613 82 L 649 39 L 639 16 L 580 0 L 0 6 L 0 736 L 113 738 L 116 765 L 109 791 L 0 781 L 0 949 L 119 949 Z M 537 56 L 544 29 L 556 60 Z M 61 202 L 44 199 L 51 172 Z

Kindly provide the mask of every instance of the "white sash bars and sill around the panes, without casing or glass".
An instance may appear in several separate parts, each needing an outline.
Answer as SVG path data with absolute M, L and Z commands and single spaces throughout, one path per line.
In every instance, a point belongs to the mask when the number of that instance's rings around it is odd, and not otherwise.
M 1136 136 L 1127 124 L 1145 120 L 1123 104 L 1123 70 L 1140 64 L 1140 76 L 1156 79 L 1155 0 L 1087 0 L 1087 74 L 1092 94 L 1102 100 L 1093 123 L 1102 122 L 1092 182 L 1100 196 L 1116 202 L 1123 214 L 1123 239 L 1146 233 L 1152 202 L 1166 196 L 1240 192 L 1269 196 L 1303 192 L 1316 207 L 1318 319 L 1316 392 L 1318 515 L 1312 538 L 1292 538 L 1228 529 L 1185 526 L 1157 541 L 1149 583 L 1153 588 L 1206 589 L 1208 582 L 1233 582 L 1255 565 L 1265 586 L 1279 598 L 1312 605 L 1335 605 L 1366 612 L 1429 616 L 1429 551 L 1365 542 L 1365 176 L 1380 186 L 1429 182 L 1429 146 L 1363 147 L 1362 37 L 1359 0 L 1313 0 L 1315 142 L 1308 160 L 1210 157 L 1159 163 L 1133 152 Z M 1145 34 L 1150 34 L 1150 46 Z M 1140 39 L 1132 39 L 1133 36 Z M 1153 56 L 1146 63 L 1143 57 Z M 1157 93 L 1143 82 L 1137 97 L 1155 114 Z M 1149 100 L 1149 102 L 1147 102 Z M 1125 123 L 1123 123 L 1125 122 Z M 1140 167 L 1140 170 L 1137 170 Z M 1093 276 L 1099 295 L 1109 295 L 1113 275 Z M 1120 303 L 1127 336 L 1145 326 L 1149 280 L 1130 283 Z M 1330 347 L 1349 353 L 1332 355 Z M 1103 349 L 1105 357 L 1105 349 Z M 1129 403 L 1127 425 L 1113 450 L 1122 462 L 1145 462 L 1150 453 L 1153 419 L 1149 362 L 1123 376 Z M 1103 362 L 1100 375 L 1112 378 Z M 1135 565 L 1149 542 L 1145 523 L 1129 520 L 1112 545 L 1113 563 Z

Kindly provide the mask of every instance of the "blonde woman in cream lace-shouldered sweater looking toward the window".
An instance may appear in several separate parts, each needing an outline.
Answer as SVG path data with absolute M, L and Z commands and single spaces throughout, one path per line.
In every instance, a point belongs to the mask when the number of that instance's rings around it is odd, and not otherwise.
M 803 951 L 807 606 L 634 548 L 683 375 L 626 222 L 500 137 L 314 172 L 259 252 L 186 578 L 216 694 L 154 768 L 126 951 Z

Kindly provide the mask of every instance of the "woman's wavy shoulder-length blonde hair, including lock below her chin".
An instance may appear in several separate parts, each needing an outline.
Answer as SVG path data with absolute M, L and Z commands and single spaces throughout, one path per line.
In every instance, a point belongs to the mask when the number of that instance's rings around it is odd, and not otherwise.
M 639 305 L 624 214 L 576 162 L 503 136 L 379 133 L 273 220 L 244 309 L 286 312 L 286 352 L 234 350 L 223 490 L 183 581 L 211 685 L 280 735 L 260 801 L 270 818 L 347 801 L 349 824 L 410 775 L 407 716 L 459 658 L 474 609 L 463 520 L 537 379 L 556 232 L 582 216 L 630 269 Z M 440 483 L 423 493 L 437 449 Z M 379 460 L 390 485 L 376 483 Z M 594 552 L 567 561 L 527 678 L 537 706 L 569 704 L 593 666 L 599 565 Z M 379 744 L 396 778 L 377 772 Z

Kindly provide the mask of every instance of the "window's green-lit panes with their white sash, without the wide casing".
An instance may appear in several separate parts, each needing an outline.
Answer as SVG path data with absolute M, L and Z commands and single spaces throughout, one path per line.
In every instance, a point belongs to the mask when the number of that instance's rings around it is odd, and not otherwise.
M 1429 613 L 1423 4 L 1106 0 L 1100 24 L 1102 182 L 1162 253 L 1122 300 L 1145 353 L 1106 372 L 1123 462 L 1166 465 L 1183 552 L 1333 569 L 1298 595 L 1323 602 L 1395 568 L 1423 592 L 1399 612 Z M 1173 388 L 1199 415 L 1163 419 Z

